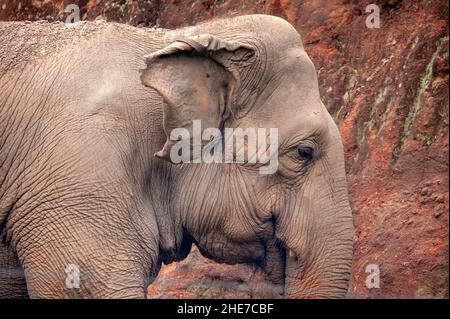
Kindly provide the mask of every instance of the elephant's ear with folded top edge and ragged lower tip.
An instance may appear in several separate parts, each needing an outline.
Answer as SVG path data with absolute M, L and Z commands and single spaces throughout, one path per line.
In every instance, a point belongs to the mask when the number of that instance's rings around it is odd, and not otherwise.
M 141 81 L 158 91 L 165 102 L 163 128 L 167 140 L 155 156 L 172 162 L 170 149 L 177 143 L 170 138 L 174 129 L 189 131 L 191 145 L 201 140 L 192 138 L 201 134 L 193 132 L 194 120 L 201 121 L 202 130 L 222 128 L 234 112 L 239 70 L 253 55 L 249 45 L 201 34 L 177 40 L 145 57 L 147 68 Z

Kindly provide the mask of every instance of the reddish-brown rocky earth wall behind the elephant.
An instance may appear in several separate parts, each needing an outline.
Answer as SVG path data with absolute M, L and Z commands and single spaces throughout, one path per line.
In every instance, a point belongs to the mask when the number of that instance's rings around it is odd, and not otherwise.
M 266 13 L 291 22 L 316 65 L 346 150 L 355 254 L 349 297 L 448 298 L 448 3 L 401 0 L 0 0 L 0 20 L 106 19 L 176 28 Z M 366 27 L 366 6 L 380 28 Z M 366 288 L 366 267 L 380 288 Z M 151 298 L 277 297 L 250 266 L 194 250 L 164 266 Z

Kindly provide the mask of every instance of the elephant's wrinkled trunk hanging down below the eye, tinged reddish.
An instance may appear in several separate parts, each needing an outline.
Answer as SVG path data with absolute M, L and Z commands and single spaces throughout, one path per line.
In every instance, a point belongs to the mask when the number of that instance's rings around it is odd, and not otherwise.
M 337 164 L 339 165 L 339 164 Z M 333 170 L 327 163 L 328 169 Z M 343 166 L 343 165 L 342 165 Z M 318 181 L 290 202 L 290 218 L 280 219 L 285 244 L 285 297 L 343 298 L 351 274 L 353 220 L 343 167 L 314 174 Z M 280 216 L 281 217 L 281 216 Z

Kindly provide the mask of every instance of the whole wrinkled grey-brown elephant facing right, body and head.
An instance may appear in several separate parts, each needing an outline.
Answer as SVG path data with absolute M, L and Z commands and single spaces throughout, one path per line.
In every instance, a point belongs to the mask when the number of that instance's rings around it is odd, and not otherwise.
M 287 22 L 2 23 L 0 61 L 0 295 L 143 298 L 195 243 L 257 264 L 286 297 L 345 296 L 343 149 Z M 278 171 L 170 163 L 166 134 L 193 119 L 278 128 Z M 69 264 L 80 289 L 65 286 Z

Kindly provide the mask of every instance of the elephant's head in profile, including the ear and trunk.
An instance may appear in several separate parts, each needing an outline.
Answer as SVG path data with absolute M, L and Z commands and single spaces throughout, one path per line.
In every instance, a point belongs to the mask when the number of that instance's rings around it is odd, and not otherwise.
M 195 135 L 195 120 L 222 133 L 278 130 L 271 174 L 261 174 L 262 164 L 249 156 L 243 163 L 170 164 L 171 210 L 185 237 L 216 261 L 259 265 L 288 297 L 345 296 L 353 224 L 343 147 L 296 30 L 262 15 L 216 21 L 177 33 L 146 63 L 142 83 L 165 102 L 160 159 L 174 162 L 171 133 Z M 250 143 L 240 148 L 234 157 Z

